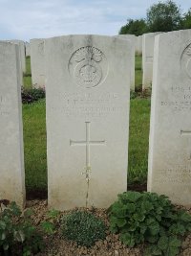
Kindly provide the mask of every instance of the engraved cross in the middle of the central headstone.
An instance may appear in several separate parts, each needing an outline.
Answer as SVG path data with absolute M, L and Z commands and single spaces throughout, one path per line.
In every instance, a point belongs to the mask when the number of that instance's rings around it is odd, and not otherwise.
M 81 141 L 70 140 L 70 146 L 86 146 L 86 178 L 89 179 L 89 171 L 91 169 L 90 165 L 90 146 L 101 146 L 105 145 L 105 140 L 93 141 L 90 139 L 90 122 L 85 122 L 86 124 L 86 139 Z

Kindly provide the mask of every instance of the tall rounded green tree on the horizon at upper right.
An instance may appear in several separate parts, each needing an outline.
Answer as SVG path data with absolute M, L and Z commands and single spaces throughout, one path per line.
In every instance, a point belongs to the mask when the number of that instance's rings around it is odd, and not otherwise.
M 154 4 L 147 11 L 149 32 L 169 32 L 181 29 L 180 7 L 171 0 Z

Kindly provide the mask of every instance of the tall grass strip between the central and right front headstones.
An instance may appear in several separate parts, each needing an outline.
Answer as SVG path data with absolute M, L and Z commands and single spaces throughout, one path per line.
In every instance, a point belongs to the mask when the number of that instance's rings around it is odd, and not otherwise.
M 128 184 L 146 183 L 150 99 L 134 99 L 130 105 Z

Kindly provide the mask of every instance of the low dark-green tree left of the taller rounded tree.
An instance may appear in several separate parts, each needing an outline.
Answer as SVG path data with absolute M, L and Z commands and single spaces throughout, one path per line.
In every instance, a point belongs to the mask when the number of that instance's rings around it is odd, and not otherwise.
M 122 26 L 119 35 L 133 34 L 142 35 L 147 32 L 147 25 L 144 19 L 128 19 L 127 24 Z

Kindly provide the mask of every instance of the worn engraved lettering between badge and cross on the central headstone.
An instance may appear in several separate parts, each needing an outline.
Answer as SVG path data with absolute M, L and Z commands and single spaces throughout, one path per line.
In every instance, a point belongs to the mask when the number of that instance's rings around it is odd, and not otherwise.
M 124 107 L 121 106 L 122 97 L 111 92 L 59 94 L 57 102 L 62 102 L 62 106 L 57 111 L 72 118 L 105 118 L 124 112 Z M 51 108 L 54 109 L 53 106 Z

